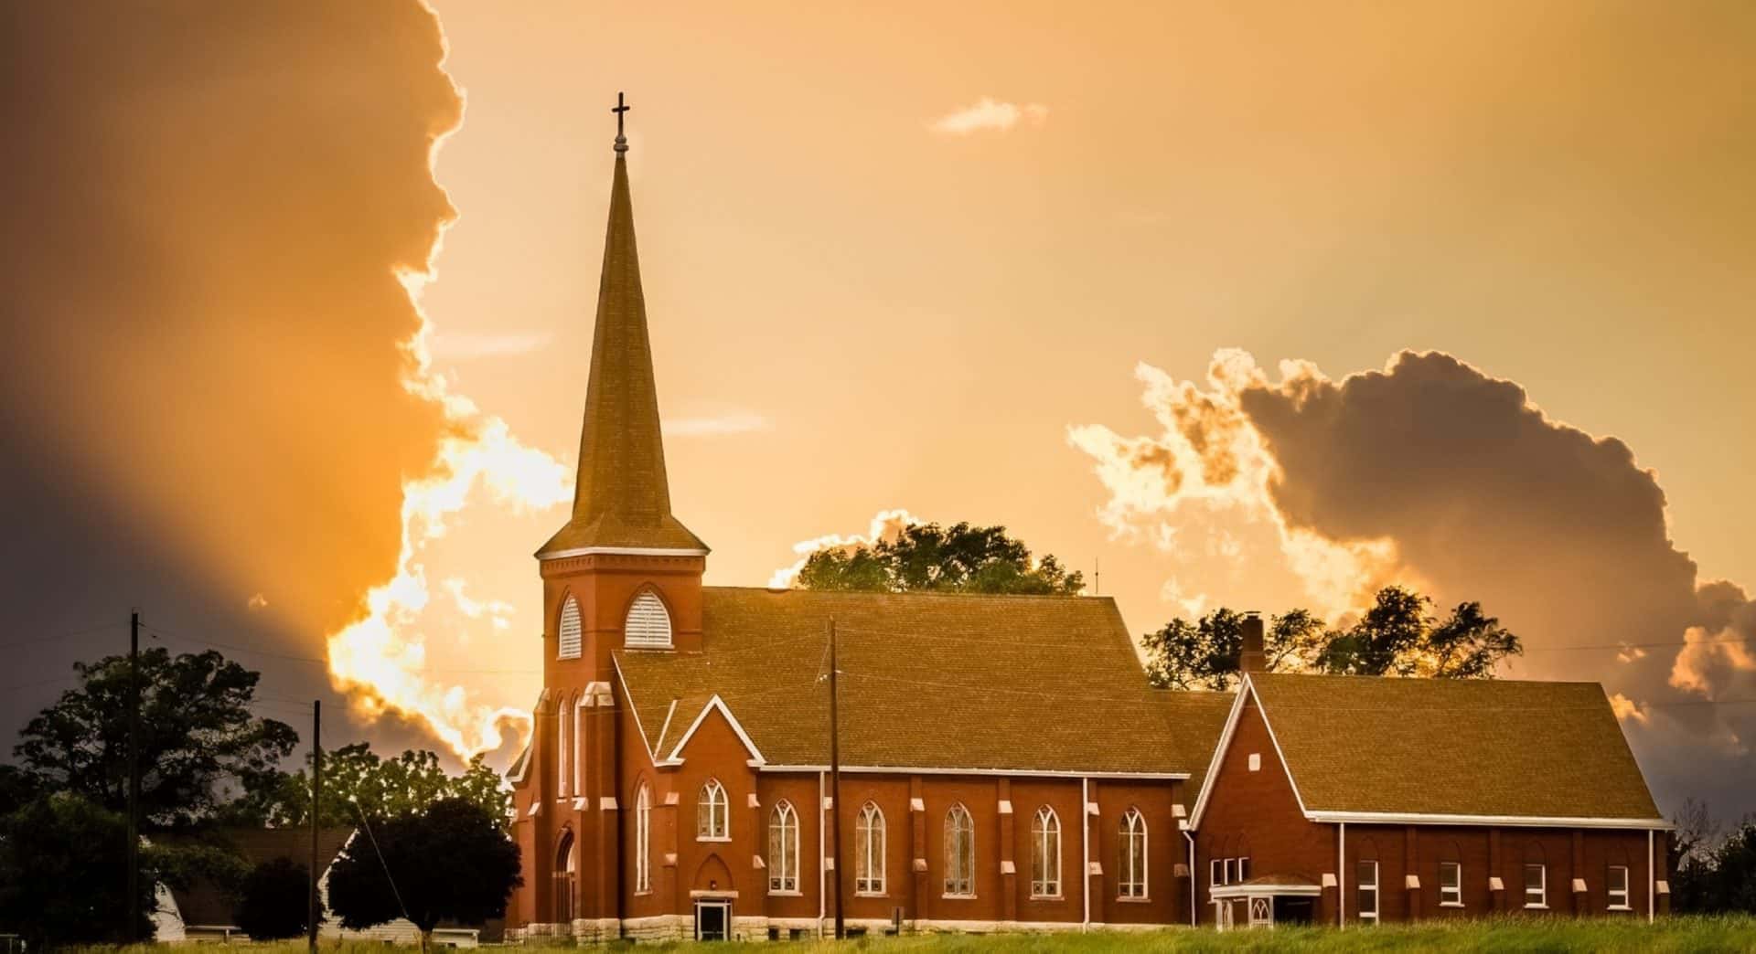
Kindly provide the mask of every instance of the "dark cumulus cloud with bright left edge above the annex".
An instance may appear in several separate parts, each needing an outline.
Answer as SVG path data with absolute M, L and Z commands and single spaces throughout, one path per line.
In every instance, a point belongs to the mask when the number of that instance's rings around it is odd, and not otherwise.
M 1756 607 L 1696 579 L 1658 477 L 1621 440 L 1554 421 L 1517 384 L 1442 352 L 1340 381 L 1305 361 L 1271 377 L 1238 351 L 1219 352 L 1205 382 L 1136 374 L 1157 433 L 1068 433 L 1094 461 L 1115 535 L 1229 521 L 1247 558 L 1331 616 L 1385 582 L 1482 600 L 1526 638 L 1519 673 L 1601 680 L 1637 747 L 1735 754 L 1724 784 L 1756 782 L 1756 724 L 1735 701 L 1756 698 Z

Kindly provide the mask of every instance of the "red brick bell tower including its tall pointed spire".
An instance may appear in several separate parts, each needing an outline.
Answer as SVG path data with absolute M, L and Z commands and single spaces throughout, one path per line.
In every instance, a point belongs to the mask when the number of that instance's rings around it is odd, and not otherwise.
M 523 789 L 518 821 L 530 822 L 520 833 L 518 915 L 576 938 L 595 938 L 620 917 L 616 829 L 629 794 L 620 791 L 616 712 L 625 700 L 611 654 L 699 651 L 708 565 L 706 544 L 671 514 L 622 135 L 627 110 L 618 95 L 579 473 L 572 514 L 536 552 L 543 696 L 515 786 Z

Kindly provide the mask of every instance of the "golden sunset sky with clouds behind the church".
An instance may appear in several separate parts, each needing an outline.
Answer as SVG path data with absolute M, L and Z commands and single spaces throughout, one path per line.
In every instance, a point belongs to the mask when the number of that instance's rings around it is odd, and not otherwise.
M 140 607 L 327 738 L 516 754 L 627 91 L 709 584 L 892 510 L 1101 561 L 1136 633 L 1408 582 L 1605 682 L 1666 812 L 1756 808 L 1751 49 L 1742 2 L 9 9 L 0 740 Z

